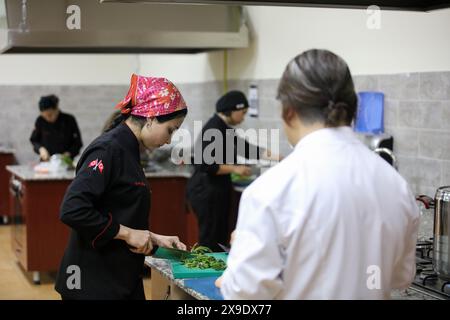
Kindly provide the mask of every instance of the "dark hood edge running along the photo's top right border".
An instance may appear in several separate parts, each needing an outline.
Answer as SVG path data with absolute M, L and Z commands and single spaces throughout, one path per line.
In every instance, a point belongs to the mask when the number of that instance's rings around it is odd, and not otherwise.
M 322 8 L 366 9 L 377 5 L 383 10 L 430 11 L 450 8 L 449 0 L 100 0 L 102 2 L 133 3 L 203 3 L 229 5 L 265 5 L 265 6 L 298 6 Z

